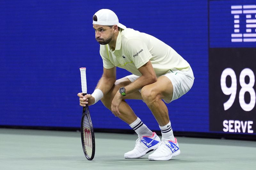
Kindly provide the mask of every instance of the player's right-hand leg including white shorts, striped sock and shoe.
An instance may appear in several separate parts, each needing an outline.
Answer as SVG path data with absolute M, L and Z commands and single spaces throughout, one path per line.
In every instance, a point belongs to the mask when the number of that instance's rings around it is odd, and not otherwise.
M 169 160 L 180 154 L 179 144 L 173 136 L 168 109 L 164 102 L 177 99 L 189 91 L 194 79 L 185 74 L 170 73 L 161 76 L 153 84 L 146 85 L 141 90 L 142 99 L 155 116 L 162 133 L 162 142 L 156 151 L 148 155 L 149 160 Z M 172 96 L 173 95 L 173 96 Z

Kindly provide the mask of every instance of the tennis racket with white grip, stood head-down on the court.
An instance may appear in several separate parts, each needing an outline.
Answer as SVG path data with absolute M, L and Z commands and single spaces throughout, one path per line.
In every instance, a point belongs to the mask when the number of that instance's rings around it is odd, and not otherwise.
M 86 84 L 86 68 L 80 68 L 81 72 L 81 83 L 83 95 L 87 94 Z M 83 115 L 81 120 L 81 140 L 83 151 L 86 159 L 92 160 L 95 154 L 95 138 L 92 127 L 92 120 L 89 112 L 89 107 L 86 105 L 83 107 Z

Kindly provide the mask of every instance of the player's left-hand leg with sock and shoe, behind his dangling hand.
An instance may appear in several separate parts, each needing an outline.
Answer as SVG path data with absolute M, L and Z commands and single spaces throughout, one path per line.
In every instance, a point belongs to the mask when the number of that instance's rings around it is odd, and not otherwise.
M 131 81 L 128 78 L 121 78 L 116 81 L 115 85 L 102 99 L 102 103 L 105 107 L 111 110 L 111 103 L 120 87 L 130 84 Z M 140 99 L 141 94 L 139 91 L 133 92 L 124 96 L 124 99 Z M 121 115 L 118 117 L 124 122 L 128 123 L 130 127 L 138 134 L 139 139 L 136 140 L 135 148 L 132 151 L 126 152 L 124 158 L 133 159 L 140 158 L 146 155 L 148 152 L 155 150 L 158 147 L 160 138 L 156 133 L 148 129 L 148 127 L 137 117 L 132 108 L 123 100 L 119 105 L 119 112 Z

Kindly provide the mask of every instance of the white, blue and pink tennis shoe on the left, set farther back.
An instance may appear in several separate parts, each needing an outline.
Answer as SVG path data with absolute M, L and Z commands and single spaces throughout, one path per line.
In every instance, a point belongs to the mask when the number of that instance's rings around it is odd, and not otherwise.
M 140 158 L 146 155 L 148 152 L 156 150 L 158 144 L 160 143 L 160 138 L 153 132 L 152 137 L 143 136 L 136 140 L 135 147 L 132 151 L 126 152 L 124 158 L 134 159 Z

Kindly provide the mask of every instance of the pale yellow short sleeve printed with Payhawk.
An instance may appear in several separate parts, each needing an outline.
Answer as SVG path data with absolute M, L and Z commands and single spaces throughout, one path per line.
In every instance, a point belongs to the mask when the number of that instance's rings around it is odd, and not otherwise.
M 125 44 L 125 49 L 137 69 L 152 58 L 146 43 L 140 39 L 128 40 Z

